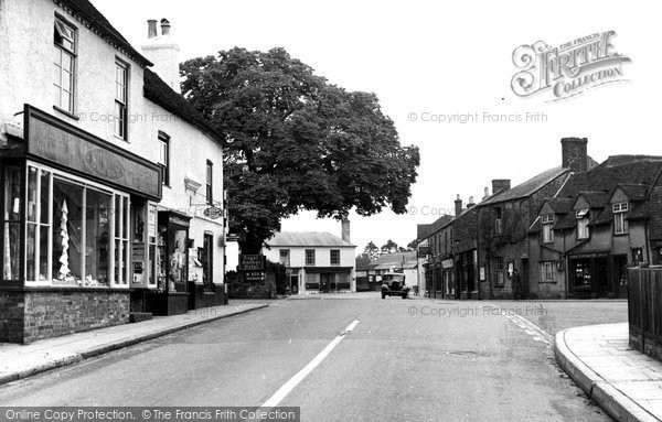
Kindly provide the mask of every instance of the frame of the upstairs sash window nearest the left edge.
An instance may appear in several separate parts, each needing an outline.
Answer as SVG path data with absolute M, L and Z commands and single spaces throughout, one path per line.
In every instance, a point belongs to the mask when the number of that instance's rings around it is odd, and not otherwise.
M 68 30 L 72 31 L 72 37 L 66 37 L 62 34 L 62 31 L 58 30 L 60 26 L 64 26 Z M 55 80 L 53 80 L 53 87 L 54 89 L 56 89 L 57 93 L 57 97 L 58 97 L 58 101 L 57 104 L 53 104 L 53 108 L 55 108 L 57 111 L 61 111 L 65 115 L 68 115 L 70 117 L 76 117 L 76 106 L 77 106 L 77 101 L 76 101 L 76 94 L 77 94 L 77 65 L 78 65 L 78 28 L 76 25 L 74 25 L 70 20 L 67 20 L 66 18 L 64 18 L 63 15 L 61 15 L 60 13 L 55 13 L 54 20 L 53 20 L 53 35 L 55 34 L 55 31 L 58 32 L 61 34 L 61 36 L 66 37 L 67 40 L 70 40 L 70 42 L 72 43 L 72 47 L 68 48 L 66 47 L 64 44 L 58 44 L 55 40 L 55 37 L 53 37 L 53 46 L 60 53 L 60 62 L 56 63 L 53 59 L 53 65 L 57 68 L 57 77 L 60 80 L 57 80 L 57 83 L 55 83 Z M 68 71 L 65 71 L 67 73 L 70 73 L 70 90 L 67 91 L 67 94 L 70 95 L 70 102 L 66 107 L 62 107 L 62 93 L 65 90 L 62 87 L 62 73 L 63 73 L 63 63 L 62 63 L 62 57 L 63 55 L 66 54 L 70 59 L 71 59 L 71 67 Z M 53 101 L 55 102 L 55 101 Z

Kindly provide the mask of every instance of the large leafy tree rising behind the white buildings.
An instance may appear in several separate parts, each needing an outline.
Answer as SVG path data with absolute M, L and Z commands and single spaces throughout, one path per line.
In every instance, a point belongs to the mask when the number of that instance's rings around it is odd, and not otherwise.
M 299 210 L 406 212 L 419 163 L 374 94 L 314 75 L 282 48 L 235 47 L 182 64 L 182 91 L 224 139 L 231 231 L 256 253 Z

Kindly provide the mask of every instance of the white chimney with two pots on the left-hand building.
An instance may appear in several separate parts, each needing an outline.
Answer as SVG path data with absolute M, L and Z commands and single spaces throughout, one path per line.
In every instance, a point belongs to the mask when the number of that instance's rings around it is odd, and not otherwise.
M 179 45 L 170 32 L 170 21 L 161 20 L 161 34 L 157 33 L 157 21 L 147 21 L 147 41 L 142 54 L 154 65 L 151 68 L 175 93 L 181 94 L 179 74 Z

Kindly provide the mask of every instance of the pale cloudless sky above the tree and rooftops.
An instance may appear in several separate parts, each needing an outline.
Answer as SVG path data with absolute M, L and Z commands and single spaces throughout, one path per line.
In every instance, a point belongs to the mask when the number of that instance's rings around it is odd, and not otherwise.
M 417 145 L 421 160 L 409 213 L 350 217 L 357 252 L 371 240 L 406 246 L 417 224 L 452 214 L 457 195 L 465 204 L 470 196 L 479 202 L 493 178 L 514 186 L 560 165 L 564 137 L 588 138 L 588 153 L 598 162 L 616 154 L 662 155 L 662 59 L 652 1 L 93 3 L 137 47 L 147 37 L 147 20 L 167 18 L 182 62 L 234 46 L 279 46 L 333 84 L 375 93 L 401 143 Z M 558 101 L 551 101 L 549 90 L 513 93 L 511 80 L 521 71 L 513 63 L 516 47 L 537 41 L 560 46 L 607 31 L 616 32 L 611 52 L 631 59 L 621 67 L 621 82 Z M 340 223 L 313 213 L 284 220 L 282 229 L 340 236 Z

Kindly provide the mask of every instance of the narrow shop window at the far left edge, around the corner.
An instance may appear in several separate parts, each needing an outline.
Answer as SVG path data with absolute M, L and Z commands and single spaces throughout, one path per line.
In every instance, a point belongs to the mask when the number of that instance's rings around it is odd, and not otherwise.
M 2 171 L 2 278 L 20 280 L 21 274 L 21 185 L 22 170 L 6 166 Z

